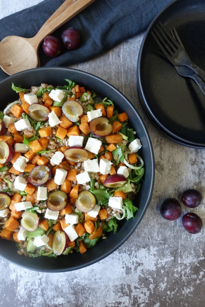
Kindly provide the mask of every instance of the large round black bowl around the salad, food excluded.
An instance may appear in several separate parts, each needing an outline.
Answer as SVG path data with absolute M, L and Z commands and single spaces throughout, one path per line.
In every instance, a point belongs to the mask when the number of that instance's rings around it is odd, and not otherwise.
M 145 211 L 148 208 L 152 196 L 154 185 L 154 155 L 152 144 L 146 127 L 139 114 L 128 101 L 128 99 L 120 93 L 115 87 L 108 84 L 104 80 L 93 76 L 87 72 L 83 72 L 70 68 L 35 68 L 19 72 L 10 76 L 0 83 L 0 103 L 3 110 L 9 102 L 18 99 L 16 94 L 11 89 L 11 84 L 14 82 L 16 86 L 30 88 L 34 85 L 43 83 L 52 84 L 54 86 L 64 85 L 64 79 L 75 81 L 81 86 L 85 86 L 89 90 L 93 90 L 100 98 L 108 97 L 111 99 L 116 107 L 125 111 L 130 119 L 130 123 L 137 131 L 137 136 L 140 138 L 142 148 L 140 155 L 145 162 L 144 181 L 139 194 L 136 196 L 135 205 L 139 208 L 133 219 L 124 220 L 118 227 L 116 234 L 108 233 L 106 240 L 101 240 L 96 246 L 89 249 L 85 254 L 80 253 L 69 254 L 68 256 L 58 256 L 57 258 L 36 257 L 29 258 L 19 256 L 17 254 L 17 247 L 14 242 L 0 239 L 0 256 L 6 260 L 22 266 L 26 269 L 36 270 L 41 272 L 65 272 L 77 270 L 85 266 L 89 266 L 106 256 L 110 255 L 118 247 L 120 247 L 132 233 L 135 231 L 137 225 L 142 220 Z

